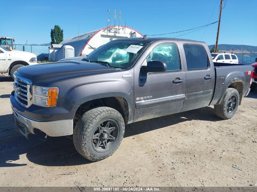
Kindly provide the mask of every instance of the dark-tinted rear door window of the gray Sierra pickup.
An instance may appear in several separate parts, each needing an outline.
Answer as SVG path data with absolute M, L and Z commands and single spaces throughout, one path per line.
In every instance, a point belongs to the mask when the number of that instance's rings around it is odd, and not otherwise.
M 209 60 L 203 45 L 184 44 L 187 70 L 208 69 Z

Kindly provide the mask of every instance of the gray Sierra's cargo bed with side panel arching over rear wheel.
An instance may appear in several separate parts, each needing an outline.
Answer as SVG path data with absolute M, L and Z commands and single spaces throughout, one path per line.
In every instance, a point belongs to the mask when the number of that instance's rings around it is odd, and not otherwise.
M 247 75 L 247 71 L 252 71 L 252 67 L 243 64 L 231 64 L 231 63 L 217 63 L 214 62 L 215 70 L 215 87 L 213 98 L 210 102 L 210 105 L 216 105 L 221 103 L 221 100 L 224 96 L 224 93 L 231 83 L 242 82 L 244 85 L 242 88 L 241 95 L 242 97 L 248 91 L 250 86 L 251 75 Z

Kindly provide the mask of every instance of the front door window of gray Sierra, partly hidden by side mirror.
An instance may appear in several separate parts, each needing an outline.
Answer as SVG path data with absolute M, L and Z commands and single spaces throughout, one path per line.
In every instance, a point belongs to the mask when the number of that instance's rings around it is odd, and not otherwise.
M 146 58 L 146 62 L 161 60 L 167 65 L 167 71 L 180 70 L 179 52 L 174 43 L 165 43 L 155 47 Z

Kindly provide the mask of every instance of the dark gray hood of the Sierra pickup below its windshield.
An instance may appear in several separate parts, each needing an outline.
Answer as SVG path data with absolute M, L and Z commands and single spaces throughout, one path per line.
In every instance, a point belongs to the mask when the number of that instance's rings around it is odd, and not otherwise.
M 17 75 L 29 79 L 33 85 L 44 86 L 46 83 L 64 78 L 114 72 L 116 69 L 85 61 L 61 61 L 19 68 Z

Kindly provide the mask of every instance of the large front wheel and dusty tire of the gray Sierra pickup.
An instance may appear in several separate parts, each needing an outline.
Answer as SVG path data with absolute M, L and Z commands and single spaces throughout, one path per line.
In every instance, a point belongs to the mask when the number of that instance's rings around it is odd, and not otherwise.
M 84 113 L 78 120 L 73 142 L 83 157 L 99 161 L 116 151 L 123 139 L 124 131 L 125 123 L 118 111 L 110 107 L 97 107 Z

